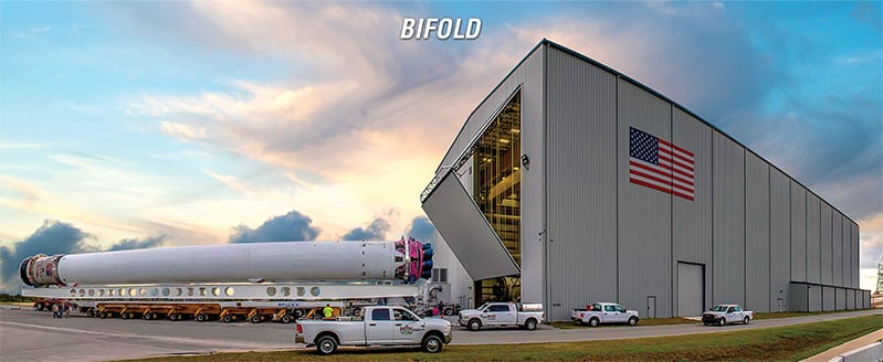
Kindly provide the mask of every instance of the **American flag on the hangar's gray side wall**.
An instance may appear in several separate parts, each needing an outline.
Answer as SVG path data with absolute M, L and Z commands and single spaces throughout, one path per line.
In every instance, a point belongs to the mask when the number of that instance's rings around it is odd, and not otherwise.
M 693 201 L 693 152 L 629 127 L 629 182 Z

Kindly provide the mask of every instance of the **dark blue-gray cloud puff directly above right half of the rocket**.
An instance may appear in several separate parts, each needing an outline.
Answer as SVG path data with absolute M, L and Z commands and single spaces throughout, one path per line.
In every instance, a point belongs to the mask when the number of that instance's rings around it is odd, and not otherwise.
M 287 214 L 271 217 L 257 228 L 235 226 L 230 243 L 314 241 L 320 228 L 311 223 L 313 220 L 308 216 L 292 210 Z

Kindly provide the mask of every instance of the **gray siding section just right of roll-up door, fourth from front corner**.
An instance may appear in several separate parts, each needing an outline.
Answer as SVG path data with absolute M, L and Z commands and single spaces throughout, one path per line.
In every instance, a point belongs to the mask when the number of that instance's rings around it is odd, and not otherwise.
M 745 304 L 745 149 L 718 131 L 712 136 L 713 298 Z

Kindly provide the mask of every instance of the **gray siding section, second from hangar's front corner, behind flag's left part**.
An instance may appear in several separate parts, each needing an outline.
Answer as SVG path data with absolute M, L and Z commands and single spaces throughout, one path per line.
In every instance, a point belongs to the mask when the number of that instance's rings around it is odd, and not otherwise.
M 619 302 L 647 317 L 655 297 L 656 317 L 672 316 L 672 195 L 629 182 L 629 127 L 671 140 L 671 104 L 619 81 Z

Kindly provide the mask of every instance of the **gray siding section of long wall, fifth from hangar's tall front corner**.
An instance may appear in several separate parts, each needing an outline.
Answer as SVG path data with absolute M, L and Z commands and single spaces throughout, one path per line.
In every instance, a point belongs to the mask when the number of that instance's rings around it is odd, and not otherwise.
M 745 153 L 745 308 L 769 311 L 769 164 Z

